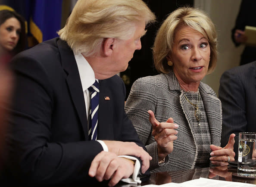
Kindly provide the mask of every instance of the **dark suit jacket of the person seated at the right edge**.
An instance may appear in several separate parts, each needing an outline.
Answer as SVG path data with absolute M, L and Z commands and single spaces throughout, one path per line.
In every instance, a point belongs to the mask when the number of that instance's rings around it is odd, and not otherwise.
M 256 132 L 256 61 L 224 72 L 220 79 L 219 99 L 222 102 L 221 146 L 229 135 L 236 134 L 234 152 L 238 150 L 239 132 Z

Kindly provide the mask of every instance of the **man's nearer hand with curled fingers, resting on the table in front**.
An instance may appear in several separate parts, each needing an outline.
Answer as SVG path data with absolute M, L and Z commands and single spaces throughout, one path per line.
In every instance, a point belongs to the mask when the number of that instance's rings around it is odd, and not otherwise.
M 134 171 L 133 162 L 118 157 L 115 153 L 102 151 L 91 162 L 89 176 L 97 181 L 109 180 L 109 186 L 116 185 L 122 178 L 129 178 Z

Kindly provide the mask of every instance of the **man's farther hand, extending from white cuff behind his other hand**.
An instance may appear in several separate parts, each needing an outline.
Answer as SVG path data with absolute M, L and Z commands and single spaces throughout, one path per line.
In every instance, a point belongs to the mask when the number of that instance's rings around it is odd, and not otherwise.
M 136 143 L 110 140 L 103 140 L 103 142 L 106 143 L 106 146 L 108 146 L 109 152 L 115 153 L 118 156 L 129 155 L 139 157 L 142 162 L 142 173 L 145 173 L 149 168 L 152 157 Z

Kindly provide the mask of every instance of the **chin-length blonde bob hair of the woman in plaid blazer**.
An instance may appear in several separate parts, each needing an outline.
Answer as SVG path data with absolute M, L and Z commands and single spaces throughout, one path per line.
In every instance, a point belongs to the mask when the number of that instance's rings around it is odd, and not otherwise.
M 211 50 L 208 74 L 211 73 L 217 63 L 217 32 L 214 24 L 205 12 L 191 7 L 176 9 L 165 19 L 159 28 L 153 46 L 156 70 L 161 73 L 169 73 L 170 69 L 172 69 L 172 66 L 167 64 L 166 56 L 172 51 L 175 31 L 181 25 L 187 25 L 199 31 L 208 40 Z

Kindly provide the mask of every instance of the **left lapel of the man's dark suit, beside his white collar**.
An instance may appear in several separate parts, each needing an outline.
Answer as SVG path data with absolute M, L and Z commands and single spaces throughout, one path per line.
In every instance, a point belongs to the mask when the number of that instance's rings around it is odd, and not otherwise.
M 81 122 L 84 131 L 84 138 L 85 140 L 88 140 L 84 93 L 78 72 L 78 67 L 75 61 L 75 56 L 65 41 L 59 40 L 57 41 L 57 44 L 61 56 L 62 67 L 67 74 L 66 82 L 69 87 L 70 97 L 72 97 L 72 101 Z

